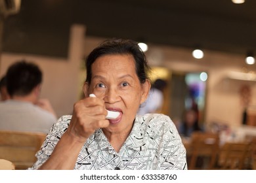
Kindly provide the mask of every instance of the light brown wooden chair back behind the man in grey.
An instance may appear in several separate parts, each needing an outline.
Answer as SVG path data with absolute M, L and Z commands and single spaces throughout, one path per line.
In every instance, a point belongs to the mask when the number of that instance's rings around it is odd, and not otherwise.
M 35 163 L 46 134 L 18 131 L 0 131 L 0 158 L 14 163 L 16 169 L 28 169 Z

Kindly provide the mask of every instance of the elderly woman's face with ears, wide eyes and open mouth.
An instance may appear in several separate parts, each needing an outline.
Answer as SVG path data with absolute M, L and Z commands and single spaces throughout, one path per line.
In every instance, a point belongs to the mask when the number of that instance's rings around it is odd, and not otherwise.
M 107 110 L 119 112 L 105 129 L 111 133 L 130 131 L 141 103 L 146 100 L 150 83 L 140 84 L 135 60 L 129 54 L 105 55 L 92 65 L 91 84 L 85 84 L 85 96 L 94 93 L 105 101 Z

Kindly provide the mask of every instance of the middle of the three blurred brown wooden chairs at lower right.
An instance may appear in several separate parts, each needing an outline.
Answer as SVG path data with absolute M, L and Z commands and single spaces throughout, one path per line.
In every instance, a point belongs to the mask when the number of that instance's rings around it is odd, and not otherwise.
M 244 169 L 249 148 L 249 142 L 226 142 L 219 153 L 220 169 Z

